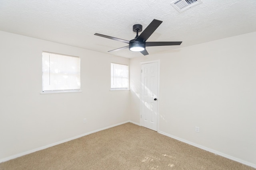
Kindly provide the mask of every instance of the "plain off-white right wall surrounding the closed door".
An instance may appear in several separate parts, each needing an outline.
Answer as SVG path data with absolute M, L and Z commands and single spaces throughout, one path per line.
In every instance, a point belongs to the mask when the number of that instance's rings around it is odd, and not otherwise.
M 136 123 L 140 62 L 156 59 L 158 131 L 256 167 L 256 32 L 131 59 L 130 120 Z

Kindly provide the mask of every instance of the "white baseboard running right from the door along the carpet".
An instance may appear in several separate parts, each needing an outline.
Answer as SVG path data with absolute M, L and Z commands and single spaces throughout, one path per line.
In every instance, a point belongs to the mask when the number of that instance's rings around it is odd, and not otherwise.
M 208 152 L 212 152 L 212 153 L 214 153 L 214 154 L 223 156 L 223 157 L 225 157 L 225 158 L 234 160 L 234 161 L 236 161 L 236 162 L 240 162 L 241 164 L 245 164 L 245 165 L 251 166 L 251 167 L 253 167 L 253 168 L 256 168 L 256 164 L 252 164 L 252 163 L 250 163 L 250 162 L 241 160 L 241 159 L 239 159 L 239 158 L 235 158 L 235 157 L 230 156 L 230 155 L 228 155 L 228 154 L 224 154 L 224 153 L 222 153 L 222 152 L 218 152 L 218 151 L 216 151 L 216 150 L 213 150 L 213 149 L 210 149 L 210 148 L 207 148 L 207 147 L 198 145 L 198 144 L 196 144 L 196 143 L 192 143 L 192 142 L 190 142 L 190 141 L 186 141 L 186 140 L 184 140 L 184 139 L 181 139 L 181 138 L 179 138 L 179 137 L 170 135 L 170 134 L 168 134 L 168 133 L 164 133 L 164 132 L 161 132 L 161 131 L 158 131 L 158 133 L 160 133 L 160 134 L 162 134 L 162 135 L 165 135 L 165 136 L 168 136 L 168 137 L 171 137 L 171 138 L 176 139 L 176 140 L 178 140 L 178 141 L 187 143 L 188 145 L 192 145 L 192 146 L 194 146 L 194 147 L 197 147 L 197 148 L 206 150 L 206 151 L 208 151 Z

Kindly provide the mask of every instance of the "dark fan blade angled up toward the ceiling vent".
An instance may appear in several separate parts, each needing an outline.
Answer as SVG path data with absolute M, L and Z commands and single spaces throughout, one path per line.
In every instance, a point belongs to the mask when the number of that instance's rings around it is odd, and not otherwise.
M 136 39 L 136 41 L 146 41 L 150 35 L 159 27 L 159 25 L 162 23 L 163 21 L 159 21 L 154 19 L 147 27 L 146 29 L 144 29 L 144 31 L 138 36 L 138 38 Z

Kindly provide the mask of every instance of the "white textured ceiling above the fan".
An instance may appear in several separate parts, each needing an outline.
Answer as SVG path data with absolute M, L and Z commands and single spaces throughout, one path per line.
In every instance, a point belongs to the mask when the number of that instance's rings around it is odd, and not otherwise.
M 163 23 L 148 41 L 183 41 L 147 47 L 149 54 L 256 31 L 256 0 L 202 0 L 179 13 L 173 0 L 0 0 L 0 30 L 126 58 L 143 56 L 100 33 L 131 40 L 134 24 Z M 246 43 L 246 42 L 241 42 Z M 53 51 L 54 52 L 54 51 Z

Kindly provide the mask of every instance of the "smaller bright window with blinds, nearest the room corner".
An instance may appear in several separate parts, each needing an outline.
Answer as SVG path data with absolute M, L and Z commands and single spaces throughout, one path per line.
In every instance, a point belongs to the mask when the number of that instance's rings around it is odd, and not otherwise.
M 111 63 L 111 89 L 128 89 L 128 65 Z

